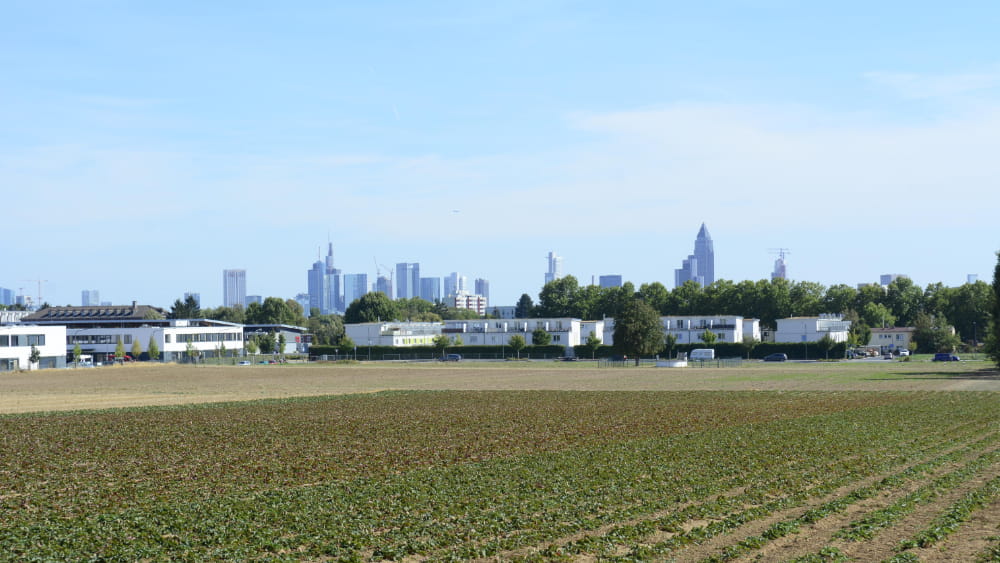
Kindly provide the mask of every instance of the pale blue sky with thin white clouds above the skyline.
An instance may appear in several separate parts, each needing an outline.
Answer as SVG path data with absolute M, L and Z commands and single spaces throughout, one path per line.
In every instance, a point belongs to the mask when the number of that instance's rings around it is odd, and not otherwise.
M 6 2 L 0 287 L 291 298 L 332 242 L 513 305 L 702 223 L 721 279 L 992 280 L 1000 4 L 489 4 Z

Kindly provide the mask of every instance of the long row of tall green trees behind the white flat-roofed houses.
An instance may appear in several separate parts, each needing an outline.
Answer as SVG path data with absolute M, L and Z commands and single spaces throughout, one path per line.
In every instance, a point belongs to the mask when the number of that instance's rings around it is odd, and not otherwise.
M 632 299 L 639 298 L 663 316 L 739 315 L 759 319 L 774 328 L 778 319 L 844 315 L 865 327 L 954 327 L 963 341 L 984 341 L 996 301 L 989 284 L 981 281 L 959 287 L 942 283 L 920 288 L 909 278 L 897 278 L 887 287 L 845 284 L 825 287 L 809 281 L 786 279 L 718 280 L 702 287 L 688 281 L 673 290 L 660 282 L 621 287 L 581 286 L 573 276 L 545 284 L 535 303 L 528 294 L 518 300 L 518 318 L 571 317 L 596 320 L 619 317 Z M 860 340 L 860 339 L 859 339 Z

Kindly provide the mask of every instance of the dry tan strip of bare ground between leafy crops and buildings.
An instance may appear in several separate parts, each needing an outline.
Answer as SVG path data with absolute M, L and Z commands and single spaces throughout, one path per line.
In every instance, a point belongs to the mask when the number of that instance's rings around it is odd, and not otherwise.
M 591 362 L 183 366 L 134 364 L 0 374 L 0 413 L 372 393 L 384 390 L 1000 391 L 985 362 L 746 363 L 600 368 Z

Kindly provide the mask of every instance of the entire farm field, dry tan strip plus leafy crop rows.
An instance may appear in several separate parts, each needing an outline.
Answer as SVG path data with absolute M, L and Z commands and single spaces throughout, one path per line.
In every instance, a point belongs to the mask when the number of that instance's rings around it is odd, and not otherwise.
M 135 366 L 0 412 L 0 560 L 1000 560 L 985 363 Z

